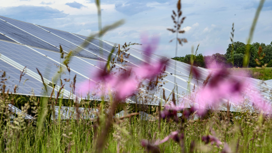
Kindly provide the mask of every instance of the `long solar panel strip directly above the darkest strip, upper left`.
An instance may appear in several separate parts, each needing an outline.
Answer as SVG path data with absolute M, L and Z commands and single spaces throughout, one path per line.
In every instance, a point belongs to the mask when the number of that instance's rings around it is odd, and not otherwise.
M 6 20 L 7 22 L 23 29 L 26 32 L 31 33 L 32 35 L 52 44 L 54 46 L 59 47 L 59 45 L 61 45 L 63 50 L 66 52 L 70 52 L 71 50 L 74 50 L 75 48 L 77 48 L 77 46 L 71 44 L 70 42 L 67 42 L 67 41 L 63 40 L 62 38 L 57 37 L 47 31 L 41 29 L 40 27 L 33 25 L 33 24 L 18 21 L 18 20 L 13 20 L 13 19 L 5 18 L 5 17 L 0 17 L 0 18 L 2 18 L 3 20 Z M 32 46 L 34 46 L 34 45 L 32 45 Z M 35 46 L 35 47 L 39 47 L 39 46 Z M 44 48 L 44 47 L 41 47 L 41 48 Z M 49 48 L 45 48 L 45 49 L 49 49 Z M 51 48 L 51 50 L 59 52 L 58 48 L 54 48 L 54 49 Z M 96 55 L 93 55 L 85 50 L 81 50 L 80 52 L 75 52 L 74 55 L 103 60 L 102 58 L 99 58 Z

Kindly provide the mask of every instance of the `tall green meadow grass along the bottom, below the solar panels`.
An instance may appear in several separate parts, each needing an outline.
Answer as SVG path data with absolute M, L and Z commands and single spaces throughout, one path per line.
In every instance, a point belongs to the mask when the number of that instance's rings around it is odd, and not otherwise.
M 28 108 L 28 103 L 25 106 Z M 2 107 L 1 152 L 97 152 L 100 136 L 96 131 L 106 124 L 106 118 L 101 116 L 98 120 L 47 118 L 44 123 L 24 120 L 22 116 L 13 120 L 4 116 L 7 114 Z M 241 113 L 211 111 L 202 118 L 191 114 L 179 120 L 159 120 L 158 114 L 153 113 L 145 119 L 138 114 L 115 118 L 101 151 L 270 152 L 272 148 L 271 118 L 250 113 L 246 108 Z M 171 131 L 180 128 L 184 135 L 173 135 Z M 166 136 L 170 136 L 169 141 L 156 145 Z

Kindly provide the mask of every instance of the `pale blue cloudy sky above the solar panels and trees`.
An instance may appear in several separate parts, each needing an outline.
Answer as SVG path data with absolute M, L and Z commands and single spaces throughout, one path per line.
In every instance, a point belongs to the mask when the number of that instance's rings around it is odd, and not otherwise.
M 34 23 L 67 32 L 89 36 L 98 31 L 97 8 L 94 0 L 0 0 L 0 16 Z M 102 39 L 114 43 L 141 43 L 141 36 L 159 37 L 156 54 L 174 57 L 175 34 L 167 31 L 174 23 L 172 10 L 176 0 L 101 0 L 102 25 L 124 19 L 125 23 Z M 198 53 L 224 54 L 230 42 L 234 23 L 234 41 L 247 42 L 258 0 L 183 0 L 182 24 L 187 43 L 178 46 L 178 56 L 190 54 L 199 44 Z M 253 42 L 272 41 L 272 0 L 266 0 L 254 32 Z M 132 46 L 141 49 L 140 45 Z

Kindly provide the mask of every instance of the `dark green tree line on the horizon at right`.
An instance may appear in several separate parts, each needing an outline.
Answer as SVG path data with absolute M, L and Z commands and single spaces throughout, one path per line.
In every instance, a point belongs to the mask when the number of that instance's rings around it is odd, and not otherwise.
M 219 67 L 242 67 L 246 50 L 249 51 L 250 55 L 248 67 L 272 67 L 272 42 L 267 45 L 259 42 L 252 44 L 233 42 L 233 44 L 229 44 L 225 54 L 215 53 L 208 56 L 187 54 L 184 57 L 174 57 L 172 59 L 188 64 L 194 61 L 194 66 L 204 68 L 209 64 L 215 65 L 215 63 Z

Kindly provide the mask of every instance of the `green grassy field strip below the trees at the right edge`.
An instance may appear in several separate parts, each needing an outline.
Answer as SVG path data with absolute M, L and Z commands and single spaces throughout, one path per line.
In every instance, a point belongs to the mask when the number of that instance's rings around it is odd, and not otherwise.
M 257 68 L 231 68 L 231 70 L 234 71 L 244 71 L 246 72 L 249 76 L 255 78 L 255 79 L 260 79 L 260 80 L 270 80 L 272 79 L 272 68 L 267 67 L 264 69 L 257 69 Z

